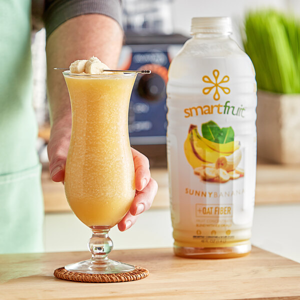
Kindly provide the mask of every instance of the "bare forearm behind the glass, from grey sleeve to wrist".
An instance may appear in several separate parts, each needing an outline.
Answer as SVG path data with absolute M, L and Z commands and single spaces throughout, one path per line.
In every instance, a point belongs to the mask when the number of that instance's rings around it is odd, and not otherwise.
M 101 14 L 84 14 L 61 24 L 46 44 L 47 93 L 52 126 L 60 127 L 70 119 L 69 96 L 61 72 L 54 67 L 68 67 L 77 59 L 97 56 L 110 68 L 116 68 L 122 30 L 112 18 Z

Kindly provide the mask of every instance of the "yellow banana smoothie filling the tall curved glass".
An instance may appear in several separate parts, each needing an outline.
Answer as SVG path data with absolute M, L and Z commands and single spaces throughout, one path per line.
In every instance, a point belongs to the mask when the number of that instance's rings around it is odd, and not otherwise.
M 87 226 L 112 227 L 135 194 L 128 105 L 135 75 L 65 75 L 72 132 L 65 166 L 68 203 Z

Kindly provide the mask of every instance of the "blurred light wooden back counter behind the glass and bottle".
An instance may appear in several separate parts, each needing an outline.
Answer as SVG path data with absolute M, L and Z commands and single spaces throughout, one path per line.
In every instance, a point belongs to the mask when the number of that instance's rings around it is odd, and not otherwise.
M 168 175 L 166 168 L 151 168 L 158 182 L 158 192 L 151 209 L 169 206 Z M 70 211 L 63 185 L 51 181 L 46 168 L 42 172 L 45 212 Z M 260 162 L 257 164 L 255 204 L 300 203 L 300 166 Z

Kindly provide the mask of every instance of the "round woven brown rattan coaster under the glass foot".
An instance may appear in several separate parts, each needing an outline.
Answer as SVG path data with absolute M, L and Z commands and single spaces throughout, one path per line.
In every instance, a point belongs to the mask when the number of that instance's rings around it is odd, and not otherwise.
M 133 271 L 115 274 L 88 274 L 67 271 L 59 267 L 54 271 L 54 276 L 59 279 L 80 281 L 80 282 L 124 282 L 142 279 L 149 275 L 149 271 L 143 267 L 136 266 Z

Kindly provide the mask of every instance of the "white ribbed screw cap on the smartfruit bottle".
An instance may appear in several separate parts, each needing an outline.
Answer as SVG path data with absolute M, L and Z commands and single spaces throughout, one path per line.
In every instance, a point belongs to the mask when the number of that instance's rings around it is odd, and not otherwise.
M 193 17 L 191 33 L 223 33 L 232 32 L 231 18 L 228 16 Z

